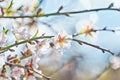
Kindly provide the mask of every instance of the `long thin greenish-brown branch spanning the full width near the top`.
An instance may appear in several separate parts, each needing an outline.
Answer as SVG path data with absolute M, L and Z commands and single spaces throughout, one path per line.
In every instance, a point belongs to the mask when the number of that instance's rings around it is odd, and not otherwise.
M 71 11 L 71 12 L 60 12 L 60 13 L 49 13 L 49 14 L 42 14 L 42 15 L 30 15 L 30 16 L 0 16 L 0 18 L 34 18 L 34 17 L 48 17 L 48 16 L 58 16 L 58 15 L 68 15 L 68 14 L 77 14 L 77 13 L 86 13 L 86 12 L 94 12 L 94 11 L 120 11 L 118 8 L 98 8 L 98 9 L 91 9 L 91 10 L 82 10 L 82 11 Z

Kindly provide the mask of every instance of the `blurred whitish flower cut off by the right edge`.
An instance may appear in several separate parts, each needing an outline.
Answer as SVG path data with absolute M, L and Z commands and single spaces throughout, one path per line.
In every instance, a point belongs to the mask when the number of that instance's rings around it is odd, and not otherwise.
M 119 56 L 112 56 L 110 58 L 110 63 L 111 63 L 111 67 L 113 69 L 118 69 L 120 68 L 120 57 Z

